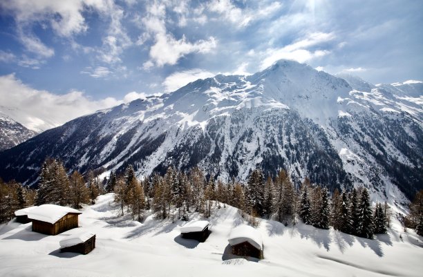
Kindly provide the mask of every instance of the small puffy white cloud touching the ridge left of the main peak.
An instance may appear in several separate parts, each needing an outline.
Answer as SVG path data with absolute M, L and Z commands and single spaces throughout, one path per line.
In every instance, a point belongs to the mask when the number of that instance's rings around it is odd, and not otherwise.
M 164 91 L 169 93 L 171 91 L 177 90 L 178 88 L 181 88 L 182 86 L 185 86 L 189 82 L 194 82 L 197 79 L 213 77 L 214 75 L 216 74 L 207 70 L 194 68 L 169 75 L 166 79 L 164 79 L 162 85 L 164 86 Z

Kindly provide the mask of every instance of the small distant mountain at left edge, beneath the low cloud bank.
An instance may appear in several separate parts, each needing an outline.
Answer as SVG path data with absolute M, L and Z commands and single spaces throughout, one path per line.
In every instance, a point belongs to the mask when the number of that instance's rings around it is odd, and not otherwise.
M 34 131 L 0 113 L 0 151 L 10 149 L 35 135 L 37 133 Z

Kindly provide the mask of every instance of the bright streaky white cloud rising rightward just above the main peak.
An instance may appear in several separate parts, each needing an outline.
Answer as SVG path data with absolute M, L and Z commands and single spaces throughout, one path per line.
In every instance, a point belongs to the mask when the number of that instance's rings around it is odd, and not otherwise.
M 316 57 L 323 57 L 330 53 L 329 50 L 310 50 L 313 46 L 326 43 L 335 39 L 333 33 L 314 32 L 306 38 L 299 39 L 283 48 L 268 48 L 264 52 L 265 59 L 261 62 L 261 69 L 271 66 L 279 59 L 292 59 L 304 63 Z

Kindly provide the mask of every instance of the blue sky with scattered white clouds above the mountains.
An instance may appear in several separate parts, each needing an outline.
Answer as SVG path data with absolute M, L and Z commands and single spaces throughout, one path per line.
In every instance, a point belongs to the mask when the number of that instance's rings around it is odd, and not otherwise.
M 26 125 L 59 113 L 57 125 L 282 58 L 374 84 L 422 80 L 421 26 L 420 0 L 2 0 L 0 111 Z

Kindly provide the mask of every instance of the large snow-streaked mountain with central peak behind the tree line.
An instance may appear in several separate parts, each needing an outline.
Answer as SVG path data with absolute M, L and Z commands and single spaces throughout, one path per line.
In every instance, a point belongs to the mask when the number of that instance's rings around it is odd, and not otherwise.
M 1 153 L 0 176 L 32 184 L 48 156 L 82 172 L 198 165 L 225 180 L 259 166 L 404 201 L 423 188 L 422 95 L 421 82 L 374 86 L 281 60 L 79 117 Z

